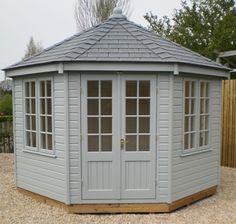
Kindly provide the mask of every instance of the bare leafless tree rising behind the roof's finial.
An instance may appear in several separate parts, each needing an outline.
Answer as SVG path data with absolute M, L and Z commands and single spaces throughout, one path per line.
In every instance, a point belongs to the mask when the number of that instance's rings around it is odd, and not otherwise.
M 87 30 L 106 19 L 119 6 L 125 15 L 130 14 L 131 0 L 77 0 L 75 19 L 78 31 Z

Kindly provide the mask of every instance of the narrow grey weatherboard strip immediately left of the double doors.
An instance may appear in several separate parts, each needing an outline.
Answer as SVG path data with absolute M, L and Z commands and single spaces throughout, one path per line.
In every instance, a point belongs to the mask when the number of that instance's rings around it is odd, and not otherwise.
M 81 151 L 80 151 L 80 73 L 69 73 L 69 164 L 70 164 L 70 202 L 81 200 Z

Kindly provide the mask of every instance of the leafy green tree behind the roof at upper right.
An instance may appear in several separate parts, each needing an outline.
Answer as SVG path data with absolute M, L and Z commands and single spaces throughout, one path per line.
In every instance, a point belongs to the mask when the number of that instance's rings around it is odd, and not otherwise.
M 211 59 L 217 51 L 236 49 L 234 0 L 191 0 L 181 5 L 172 18 L 146 14 L 148 28 Z

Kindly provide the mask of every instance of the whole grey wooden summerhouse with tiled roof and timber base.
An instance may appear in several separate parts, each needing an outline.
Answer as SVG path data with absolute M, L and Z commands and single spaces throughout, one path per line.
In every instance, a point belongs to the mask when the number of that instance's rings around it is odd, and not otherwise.
M 227 68 L 120 9 L 5 72 L 19 189 L 72 212 L 155 212 L 219 185 Z

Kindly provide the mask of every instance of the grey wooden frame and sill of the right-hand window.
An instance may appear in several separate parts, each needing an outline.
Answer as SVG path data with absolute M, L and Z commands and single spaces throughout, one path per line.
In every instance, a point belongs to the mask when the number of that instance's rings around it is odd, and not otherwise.
M 196 83 L 196 136 L 195 136 L 195 148 L 185 149 L 185 82 L 195 82 Z M 208 144 L 200 146 L 200 103 L 201 103 L 201 83 L 208 83 L 209 88 L 209 120 L 208 120 Z M 184 78 L 183 79 L 183 126 L 182 126 L 182 155 L 195 154 L 211 150 L 211 82 L 207 79 L 193 79 Z M 205 124 L 204 124 L 205 125 Z

